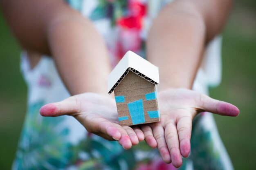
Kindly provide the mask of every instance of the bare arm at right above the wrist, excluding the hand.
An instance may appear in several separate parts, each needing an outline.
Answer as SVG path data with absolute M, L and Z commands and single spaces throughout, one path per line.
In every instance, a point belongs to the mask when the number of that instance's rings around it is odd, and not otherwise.
M 147 58 L 159 67 L 159 90 L 192 88 L 204 47 L 227 18 L 230 2 L 225 3 L 226 11 L 217 15 L 212 2 L 200 0 L 177 0 L 159 13 L 147 41 Z M 213 9 L 207 11 L 208 5 Z

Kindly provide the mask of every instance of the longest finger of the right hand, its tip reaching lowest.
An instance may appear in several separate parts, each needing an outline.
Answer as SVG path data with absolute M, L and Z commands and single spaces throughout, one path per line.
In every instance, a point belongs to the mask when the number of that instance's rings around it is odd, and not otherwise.
M 170 122 L 166 125 L 164 130 L 164 136 L 171 155 L 172 164 L 176 168 L 179 168 L 182 165 L 182 158 L 180 154 L 177 127 L 174 122 Z

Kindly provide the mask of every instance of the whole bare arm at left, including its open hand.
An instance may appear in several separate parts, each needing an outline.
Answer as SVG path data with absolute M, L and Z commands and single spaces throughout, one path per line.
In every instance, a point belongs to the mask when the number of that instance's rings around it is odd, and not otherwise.
M 72 95 L 93 92 L 107 95 L 107 77 L 110 64 L 106 46 L 94 29 L 90 20 L 71 9 L 64 0 L 1 0 L 2 11 L 11 30 L 24 49 L 51 55 L 63 82 Z M 79 101 L 84 104 L 81 114 Z M 62 102 L 48 105 L 41 110 L 42 115 L 74 115 L 86 129 L 106 139 L 115 138 L 126 149 L 138 143 L 135 132 L 130 127 L 121 127 L 115 104 L 110 97 L 85 95 L 71 97 L 70 104 Z M 110 100 L 107 102 L 106 100 Z M 97 107 L 95 105 L 101 105 Z M 64 105 L 61 105 L 64 104 Z M 72 105 L 74 104 L 74 105 Z M 94 105 L 93 105 L 94 104 Z M 94 106 L 94 107 L 91 107 Z M 111 111 L 106 112 L 110 108 Z M 97 110 L 97 112 L 94 110 Z M 103 114 L 106 113 L 106 114 Z M 111 113 L 111 114 L 107 114 Z M 81 118 L 84 118 L 81 121 Z M 104 119 L 104 122 L 102 120 Z M 144 136 L 141 136 L 144 139 Z M 142 139 L 140 138 L 140 139 Z

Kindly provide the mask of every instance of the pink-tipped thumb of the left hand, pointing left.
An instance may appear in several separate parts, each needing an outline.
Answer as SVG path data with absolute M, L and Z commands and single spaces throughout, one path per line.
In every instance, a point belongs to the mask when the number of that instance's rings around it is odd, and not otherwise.
M 80 112 L 80 105 L 78 100 L 73 96 L 61 102 L 46 104 L 39 110 L 40 115 L 49 117 L 71 115 L 78 112 Z

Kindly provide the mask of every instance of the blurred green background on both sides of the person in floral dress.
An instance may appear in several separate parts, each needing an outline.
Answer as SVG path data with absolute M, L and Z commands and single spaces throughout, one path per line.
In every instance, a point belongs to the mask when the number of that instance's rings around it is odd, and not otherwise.
M 0 12 L 0 170 L 11 167 L 26 112 L 20 46 Z M 223 31 L 222 83 L 211 97 L 238 106 L 238 117 L 215 116 L 236 170 L 256 170 L 256 1 L 236 0 Z

